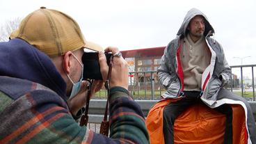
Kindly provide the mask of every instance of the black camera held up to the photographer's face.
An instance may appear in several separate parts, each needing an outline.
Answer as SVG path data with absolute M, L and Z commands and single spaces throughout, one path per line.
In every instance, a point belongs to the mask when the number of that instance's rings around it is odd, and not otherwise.
M 107 64 L 110 63 L 111 53 L 105 53 Z M 98 52 L 84 52 L 82 56 L 83 63 L 83 80 L 99 79 L 102 80 L 102 74 L 99 67 Z

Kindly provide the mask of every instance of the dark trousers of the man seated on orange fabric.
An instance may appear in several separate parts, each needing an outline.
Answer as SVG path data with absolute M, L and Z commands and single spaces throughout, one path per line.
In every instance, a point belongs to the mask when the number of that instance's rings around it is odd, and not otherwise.
M 189 106 L 202 103 L 200 92 L 184 91 L 184 97 L 177 102 L 170 102 L 163 109 L 163 137 L 166 144 L 174 143 L 173 125 L 175 119 Z M 218 106 L 214 110 L 226 115 L 224 143 L 232 144 L 232 108 L 228 104 Z

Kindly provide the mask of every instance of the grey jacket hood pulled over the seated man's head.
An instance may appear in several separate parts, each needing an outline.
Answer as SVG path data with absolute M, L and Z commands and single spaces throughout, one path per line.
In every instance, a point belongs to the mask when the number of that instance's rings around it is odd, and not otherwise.
M 206 36 L 209 33 L 209 31 L 211 31 L 211 35 L 214 33 L 214 28 L 209 23 L 206 15 L 204 13 L 202 13 L 200 10 L 198 10 L 196 8 L 192 8 L 191 10 L 189 10 L 188 13 L 186 13 L 186 16 L 184 17 L 182 26 L 180 26 L 180 28 L 179 28 L 177 36 L 184 36 L 186 34 L 186 27 L 189 25 L 189 22 L 191 21 L 191 19 L 193 19 L 193 17 L 195 17 L 196 15 L 202 15 L 202 17 L 205 17 L 205 33 L 204 33 L 204 35 Z

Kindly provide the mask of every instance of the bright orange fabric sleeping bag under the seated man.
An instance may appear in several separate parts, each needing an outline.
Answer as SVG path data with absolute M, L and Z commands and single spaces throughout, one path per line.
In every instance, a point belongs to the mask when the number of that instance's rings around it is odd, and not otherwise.
M 163 139 L 163 108 L 171 99 L 155 104 L 146 118 L 150 143 L 161 144 Z M 242 106 L 232 105 L 233 144 L 247 143 L 245 114 Z M 223 143 L 225 115 L 218 113 L 205 104 L 190 106 L 175 120 L 173 127 L 175 143 Z

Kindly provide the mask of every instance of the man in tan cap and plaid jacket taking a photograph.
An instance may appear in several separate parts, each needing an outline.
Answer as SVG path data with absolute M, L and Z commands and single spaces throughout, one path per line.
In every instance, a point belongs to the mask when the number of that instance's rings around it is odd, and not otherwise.
M 25 17 L 8 42 L 0 42 L 0 143 L 149 143 L 141 107 L 128 92 L 128 67 L 115 47 L 109 79 L 110 138 L 76 120 L 88 93 L 83 48 L 99 51 L 102 80 L 109 74 L 104 52 L 83 38 L 77 22 L 45 7 Z M 89 97 L 88 97 L 89 98 Z

